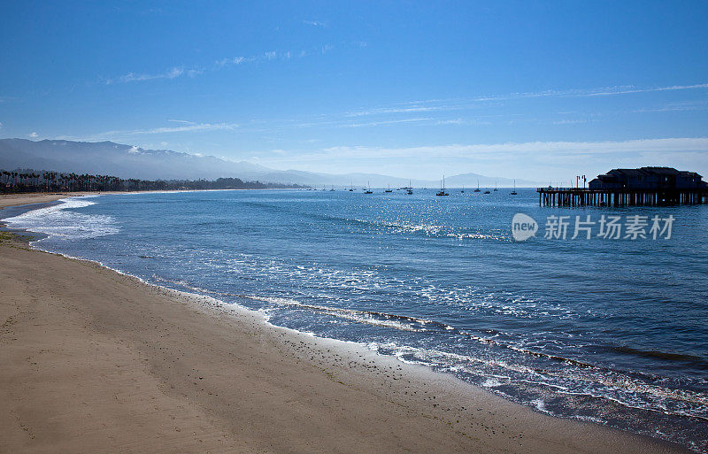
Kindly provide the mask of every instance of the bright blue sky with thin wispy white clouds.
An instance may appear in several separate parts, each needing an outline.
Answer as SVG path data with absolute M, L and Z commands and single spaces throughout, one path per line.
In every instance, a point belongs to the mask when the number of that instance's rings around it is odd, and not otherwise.
M 0 136 L 279 169 L 708 174 L 708 3 L 5 3 Z

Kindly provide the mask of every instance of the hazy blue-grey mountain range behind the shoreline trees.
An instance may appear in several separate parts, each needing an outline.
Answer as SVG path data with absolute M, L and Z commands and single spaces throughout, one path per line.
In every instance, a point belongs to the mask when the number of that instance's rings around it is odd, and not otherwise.
M 212 156 L 193 155 L 172 150 L 144 150 L 114 142 L 29 141 L 0 139 L 0 169 L 27 168 L 65 173 L 94 173 L 139 178 L 141 180 L 213 180 L 237 177 L 244 181 L 296 183 L 310 186 L 374 188 L 408 185 L 404 178 L 376 173 L 313 173 L 298 170 L 274 170 L 246 161 L 228 161 Z M 446 178 L 448 187 L 512 186 L 512 179 L 464 173 Z M 439 181 L 412 180 L 415 187 L 436 188 Z M 540 186 L 538 181 L 517 180 L 518 187 Z

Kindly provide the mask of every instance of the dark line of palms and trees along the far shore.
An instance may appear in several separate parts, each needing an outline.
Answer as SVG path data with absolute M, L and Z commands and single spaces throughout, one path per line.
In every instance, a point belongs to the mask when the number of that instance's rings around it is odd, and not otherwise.
M 113 175 L 59 173 L 31 169 L 0 169 L 0 193 L 86 192 L 86 191 L 150 191 L 197 189 L 304 189 L 298 184 L 242 181 L 240 178 L 216 180 L 140 180 Z

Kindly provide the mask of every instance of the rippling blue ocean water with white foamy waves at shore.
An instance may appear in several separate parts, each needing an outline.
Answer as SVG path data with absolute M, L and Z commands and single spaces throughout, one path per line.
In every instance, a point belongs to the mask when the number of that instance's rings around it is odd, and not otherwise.
M 42 250 L 362 342 L 539 412 L 708 451 L 708 206 L 541 208 L 534 189 L 509 193 L 89 196 L 4 222 L 48 235 Z M 518 212 L 539 224 L 524 242 Z M 575 216 L 603 215 L 675 220 L 670 238 L 596 226 L 571 239 Z M 565 240 L 544 238 L 549 216 L 570 216 Z

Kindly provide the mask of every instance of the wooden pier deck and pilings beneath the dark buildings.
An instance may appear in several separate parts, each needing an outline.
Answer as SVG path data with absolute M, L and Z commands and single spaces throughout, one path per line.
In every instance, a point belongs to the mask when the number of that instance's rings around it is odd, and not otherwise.
M 538 188 L 539 206 L 708 204 L 708 189 Z

